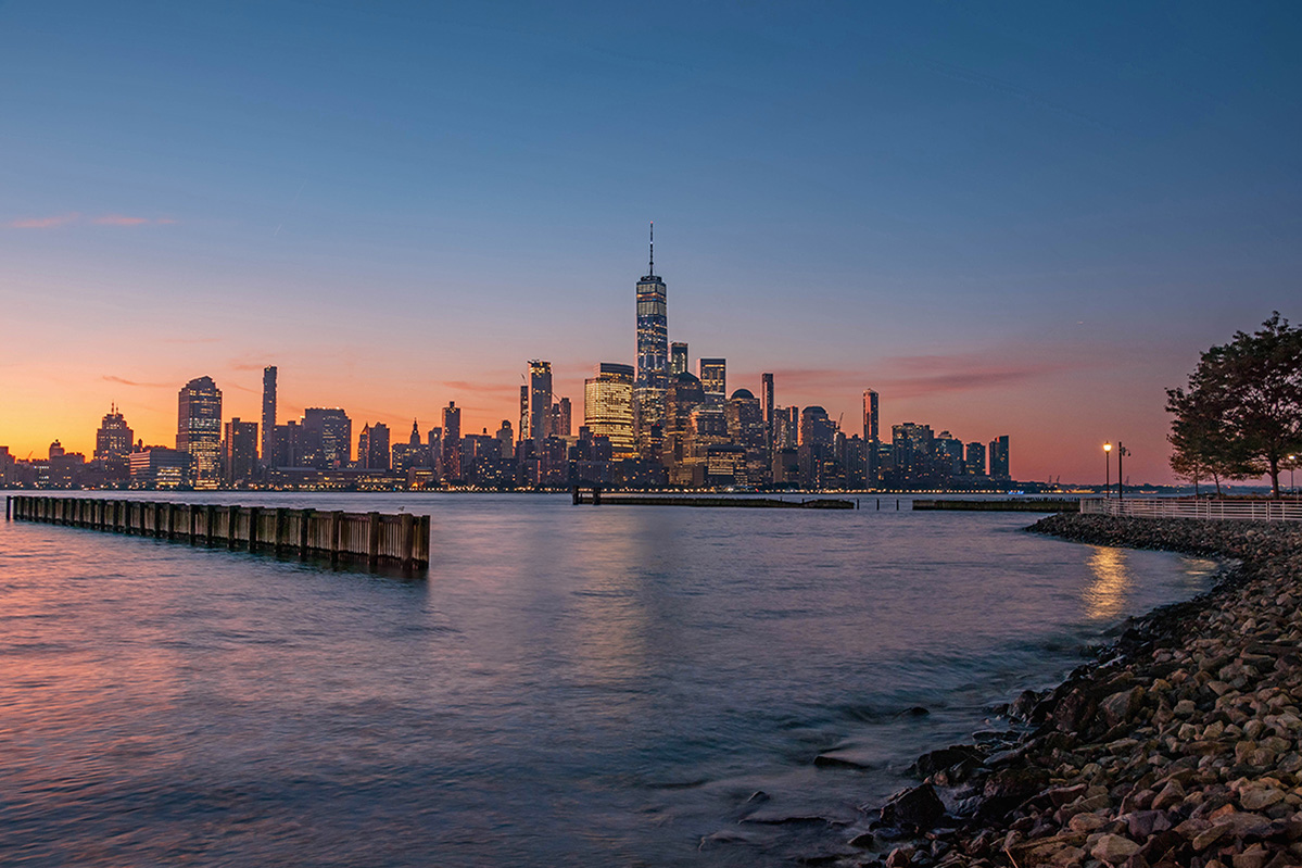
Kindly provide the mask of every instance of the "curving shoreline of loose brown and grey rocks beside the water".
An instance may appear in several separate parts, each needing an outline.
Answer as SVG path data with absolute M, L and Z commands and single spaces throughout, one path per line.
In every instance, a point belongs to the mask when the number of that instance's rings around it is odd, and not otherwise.
M 1302 528 L 1056 515 L 1030 530 L 1233 559 L 1008 709 L 1021 734 L 918 759 L 842 864 L 1302 865 Z

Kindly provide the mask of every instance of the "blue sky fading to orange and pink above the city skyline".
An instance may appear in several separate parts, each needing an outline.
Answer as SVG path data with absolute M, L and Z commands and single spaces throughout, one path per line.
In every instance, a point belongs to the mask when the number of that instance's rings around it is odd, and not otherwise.
M 1302 5 L 0 1 L 0 444 L 581 414 L 669 336 L 1013 476 L 1170 481 L 1199 352 L 1302 319 Z M 577 422 L 575 422 L 577 424 Z

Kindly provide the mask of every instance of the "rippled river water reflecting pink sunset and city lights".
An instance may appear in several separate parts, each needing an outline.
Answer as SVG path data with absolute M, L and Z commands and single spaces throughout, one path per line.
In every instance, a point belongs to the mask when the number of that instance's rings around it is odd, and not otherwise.
M 428 577 L 0 524 L 4 864 L 785 864 L 853 826 L 762 821 L 862 822 L 1213 571 L 1025 514 L 185 497 L 430 512 Z

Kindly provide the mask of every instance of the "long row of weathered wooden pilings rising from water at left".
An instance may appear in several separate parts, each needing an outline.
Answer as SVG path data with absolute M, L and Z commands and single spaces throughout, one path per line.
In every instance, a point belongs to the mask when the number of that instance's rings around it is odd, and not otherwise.
M 5 520 L 10 519 L 194 545 L 297 553 L 305 558 L 358 558 L 409 568 L 430 564 L 430 516 L 408 512 L 322 512 L 20 494 L 5 498 Z

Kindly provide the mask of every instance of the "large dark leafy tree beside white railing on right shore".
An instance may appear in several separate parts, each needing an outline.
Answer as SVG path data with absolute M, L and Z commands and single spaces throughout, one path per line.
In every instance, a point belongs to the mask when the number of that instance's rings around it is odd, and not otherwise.
M 1256 332 L 1236 332 L 1202 354 L 1187 391 L 1167 392 L 1167 409 L 1172 469 L 1268 473 L 1280 497 L 1280 465 L 1302 446 L 1302 328 L 1275 311 Z

